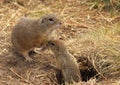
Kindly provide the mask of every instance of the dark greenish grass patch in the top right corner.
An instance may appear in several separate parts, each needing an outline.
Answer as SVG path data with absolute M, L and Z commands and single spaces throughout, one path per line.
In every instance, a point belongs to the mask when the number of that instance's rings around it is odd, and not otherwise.
M 91 4 L 90 9 L 96 8 L 99 11 L 109 11 L 111 16 L 119 14 L 120 1 L 119 0 L 88 0 Z

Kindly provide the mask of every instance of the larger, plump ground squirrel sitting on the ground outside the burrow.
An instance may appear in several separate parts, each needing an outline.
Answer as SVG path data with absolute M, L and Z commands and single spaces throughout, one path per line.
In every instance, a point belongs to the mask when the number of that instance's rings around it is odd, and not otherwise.
M 33 59 L 29 57 L 29 52 L 35 47 L 52 38 L 52 33 L 61 26 L 61 21 L 53 14 L 42 16 L 39 19 L 23 17 L 15 25 L 11 42 L 18 53 L 29 62 Z

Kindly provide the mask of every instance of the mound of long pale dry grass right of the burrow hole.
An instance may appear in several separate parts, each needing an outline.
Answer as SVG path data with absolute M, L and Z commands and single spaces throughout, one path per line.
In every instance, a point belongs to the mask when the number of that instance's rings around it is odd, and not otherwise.
M 88 57 L 98 71 L 107 76 L 120 74 L 120 27 L 100 27 L 66 42 L 72 53 Z M 119 75 L 120 76 L 120 75 Z

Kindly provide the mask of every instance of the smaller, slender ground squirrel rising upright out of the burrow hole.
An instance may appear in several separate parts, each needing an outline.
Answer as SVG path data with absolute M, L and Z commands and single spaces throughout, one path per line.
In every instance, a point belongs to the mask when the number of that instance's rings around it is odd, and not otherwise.
M 48 47 L 56 57 L 57 68 L 61 70 L 65 83 L 74 83 L 81 80 L 77 60 L 68 52 L 64 44 L 58 40 L 48 41 Z

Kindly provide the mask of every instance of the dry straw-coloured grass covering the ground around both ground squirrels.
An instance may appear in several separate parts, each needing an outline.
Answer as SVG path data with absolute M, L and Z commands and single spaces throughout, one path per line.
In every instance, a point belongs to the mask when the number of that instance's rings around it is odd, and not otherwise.
M 83 0 L 1 0 L 0 85 L 17 82 L 22 85 L 56 85 L 53 70 L 46 70 L 41 63 L 28 65 L 11 52 L 10 34 L 19 18 L 40 17 L 47 13 L 55 13 L 64 22 L 58 33 L 70 52 L 77 57 L 87 57 L 102 78 L 100 82 L 91 79 L 78 85 L 119 85 L 120 26 L 108 20 L 108 13 L 90 11 L 87 4 Z M 9 59 L 12 65 L 8 63 Z M 55 62 L 46 52 L 37 55 L 36 59 L 48 64 Z

